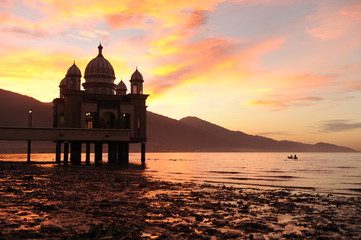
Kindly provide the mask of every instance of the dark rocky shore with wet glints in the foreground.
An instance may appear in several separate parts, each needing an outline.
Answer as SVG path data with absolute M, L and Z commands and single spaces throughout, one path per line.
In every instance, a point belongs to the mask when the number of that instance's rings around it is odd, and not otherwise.
M 0 162 L 0 239 L 360 239 L 361 197 Z

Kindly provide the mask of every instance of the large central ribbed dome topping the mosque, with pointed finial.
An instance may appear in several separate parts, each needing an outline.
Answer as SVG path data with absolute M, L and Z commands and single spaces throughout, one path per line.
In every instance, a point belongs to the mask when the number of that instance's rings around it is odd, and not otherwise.
M 98 56 L 92 59 L 85 68 L 85 81 L 114 83 L 115 74 L 113 66 L 103 57 L 103 47 L 101 44 L 99 44 L 98 49 Z

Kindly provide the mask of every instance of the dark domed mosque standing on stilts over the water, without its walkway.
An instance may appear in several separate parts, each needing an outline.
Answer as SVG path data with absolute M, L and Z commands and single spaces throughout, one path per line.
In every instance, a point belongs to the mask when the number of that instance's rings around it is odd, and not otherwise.
M 70 145 L 70 161 L 81 163 L 82 144 L 86 146 L 86 162 L 89 163 L 91 144 L 94 144 L 95 164 L 101 163 L 103 145 L 108 147 L 108 162 L 127 164 L 129 144 L 141 144 L 142 162 L 145 160 L 146 99 L 143 94 L 143 76 L 138 71 L 130 78 L 130 92 L 121 80 L 115 83 L 115 73 L 110 62 L 103 56 L 103 47 L 98 47 L 98 55 L 85 68 L 85 82 L 81 84 L 82 73 L 74 64 L 61 80 L 60 96 L 53 100 L 53 127 L 77 129 L 109 129 L 128 134 L 128 141 L 71 141 L 57 142 L 57 152 L 64 144 L 64 158 Z M 84 90 L 81 90 L 80 85 Z M 58 155 L 58 154 L 57 154 Z M 64 159 L 64 162 L 67 159 Z

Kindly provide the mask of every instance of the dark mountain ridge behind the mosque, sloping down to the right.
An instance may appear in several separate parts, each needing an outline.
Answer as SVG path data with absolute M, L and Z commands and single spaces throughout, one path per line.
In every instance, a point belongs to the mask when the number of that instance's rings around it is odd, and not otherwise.
M 34 127 L 52 126 L 52 103 L 42 103 L 34 98 L 0 89 L 0 126 L 26 127 L 28 110 L 33 110 Z M 180 120 L 156 113 L 147 113 L 149 152 L 354 152 L 347 147 L 329 143 L 304 144 L 276 141 L 262 136 L 230 131 L 197 117 Z M 16 143 L 18 144 L 18 143 Z M 15 143 L 2 142 L 4 148 L 14 151 Z M 23 143 L 21 143 L 23 144 Z M 53 145 L 38 143 L 39 151 L 53 151 Z M 25 145 L 24 145 L 25 146 Z M 134 148 L 133 148 L 134 149 Z

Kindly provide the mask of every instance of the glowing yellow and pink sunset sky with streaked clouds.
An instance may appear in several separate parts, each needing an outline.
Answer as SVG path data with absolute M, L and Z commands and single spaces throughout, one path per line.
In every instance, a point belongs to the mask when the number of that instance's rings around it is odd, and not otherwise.
M 0 32 L 1 89 L 51 102 L 101 43 L 149 111 L 361 151 L 360 0 L 0 0 Z

